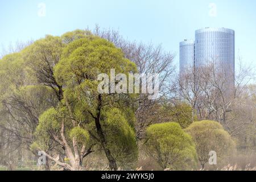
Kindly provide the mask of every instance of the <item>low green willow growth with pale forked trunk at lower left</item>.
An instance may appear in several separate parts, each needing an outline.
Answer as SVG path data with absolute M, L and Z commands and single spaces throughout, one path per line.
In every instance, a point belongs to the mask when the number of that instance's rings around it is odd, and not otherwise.
M 78 126 L 67 127 L 69 125 L 72 125 L 72 122 L 65 107 L 59 107 L 57 110 L 53 107 L 48 109 L 40 116 L 35 133 L 36 141 L 31 145 L 31 149 L 44 151 L 47 158 L 65 169 L 81 170 L 82 159 L 92 152 L 89 146 L 89 133 Z M 71 164 L 61 162 L 49 153 L 51 140 L 64 148 Z

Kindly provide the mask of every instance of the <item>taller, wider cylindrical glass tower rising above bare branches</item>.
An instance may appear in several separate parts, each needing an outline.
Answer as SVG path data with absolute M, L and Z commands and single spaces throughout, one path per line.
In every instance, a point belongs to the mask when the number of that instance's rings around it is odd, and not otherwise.
M 195 67 L 214 65 L 234 83 L 234 31 L 227 28 L 202 28 L 195 35 Z

